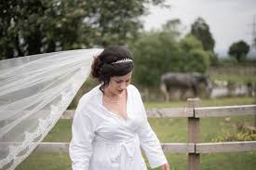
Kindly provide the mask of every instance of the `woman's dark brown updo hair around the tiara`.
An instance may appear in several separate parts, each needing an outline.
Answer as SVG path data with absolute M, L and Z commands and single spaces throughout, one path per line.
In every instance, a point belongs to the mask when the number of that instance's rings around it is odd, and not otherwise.
M 124 46 L 107 46 L 101 54 L 96 57 L 91 66 L 91 76 L 102 83 L 100 89 L 109 85 L 112 76 L 123 76 L 133 70 L 132 62 L 114 63 L 121 59 L 132 59 L 132 55 Z

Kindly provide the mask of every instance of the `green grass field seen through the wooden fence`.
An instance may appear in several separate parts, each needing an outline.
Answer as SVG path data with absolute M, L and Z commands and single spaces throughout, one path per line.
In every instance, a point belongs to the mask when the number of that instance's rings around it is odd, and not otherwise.
M 253 104 L 254 98 L 222 98 L 216 100 L 202 100 L 201 106 L 220 106 Z M 152 107 L 185 107 L 186 101 L 146 102 L 146 108 Z M 236 123 L 253 123 L 253 116 L 232 116 L 230 121 L 224 117 L 205 118 L 200 121 L 201 142 L 212 141 L 213 138 L 222 136 L 222 131 L 234 131 Z M 149 119 L 155 134 L 161 142 L 186 142 L 187 120 L 185 118 Z M 59 120 L 58 124 L 49 132 L 44 141 L 69 142 L 71 139 L 71 120 Z M 186 154 L 166 153 L 172 170 L 187 169 Z M 71 162 L 67 153 L 32 153 L 18 167 L 18 170 L 68 170 Z M 149 168 L 150 169 L 150 168 Z M 159 169 L 159 168 L 156 168 Z M 201 155 L 201 169 L 207 170 L 255 170 L 256 152 L 214 153 Z

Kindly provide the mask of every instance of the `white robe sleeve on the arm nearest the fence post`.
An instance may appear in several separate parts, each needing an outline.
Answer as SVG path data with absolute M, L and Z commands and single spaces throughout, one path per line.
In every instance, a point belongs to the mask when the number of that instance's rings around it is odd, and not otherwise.
M 143 121 L 141 126 L 137 128 L 137 133 L 140 137 L 141 148 L 144 150 L 151 168 L 155 168 L 162 164 L 168 163 L 168 161 L 161 148 L 159 139 L 156 137 L 155 132 L 148 123 L 146 111 L 140 93 L 138 99 L 138 104 L 140 104 Z

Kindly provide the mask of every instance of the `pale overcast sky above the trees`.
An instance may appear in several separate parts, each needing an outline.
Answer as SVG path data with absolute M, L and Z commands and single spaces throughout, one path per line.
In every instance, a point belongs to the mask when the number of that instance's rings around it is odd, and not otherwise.
M 251 44 L 256 0 L 167 0 L 166 4 L 171 7 L 150 7 L 151 14 L 142 18 L 145 30 L 158 29 L 167 20 L 178 18 L 188 32 L 195 19 L 202 17 L 215 39 L 215 52 L 225 55 L 238 40 Z

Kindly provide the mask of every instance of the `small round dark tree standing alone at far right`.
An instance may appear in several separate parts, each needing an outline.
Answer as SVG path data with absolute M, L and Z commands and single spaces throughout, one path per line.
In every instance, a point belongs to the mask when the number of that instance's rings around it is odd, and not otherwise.
M 228 50 L 228 54 L 230 55 L 230 57 L 236 58 L 237 61 L 246 59 L 248 52 L 249 45 L 243 40 L 233 43 L 231 46 L 229 46 Z

